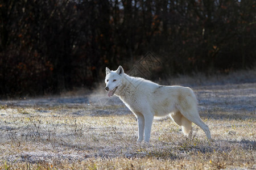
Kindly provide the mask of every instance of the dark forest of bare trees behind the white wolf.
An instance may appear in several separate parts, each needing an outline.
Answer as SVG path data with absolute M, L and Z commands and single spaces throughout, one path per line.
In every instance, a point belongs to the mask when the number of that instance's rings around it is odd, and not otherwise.
M 175 74 L 256 62 L 254 0 L 1 0 L 0 96 L 57 94 L 131 69 L 148 51 Z

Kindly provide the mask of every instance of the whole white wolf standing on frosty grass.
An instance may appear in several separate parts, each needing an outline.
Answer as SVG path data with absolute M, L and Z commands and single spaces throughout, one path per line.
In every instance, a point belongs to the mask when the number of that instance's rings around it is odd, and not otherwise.
M 129 76 L 122 66 L 111 71 L 106 67 L 108 96 L 117 95 L 135 114 L 138 120 L 138 141 L 149 142 L 154 116 L 170 114 L 172 120 L 182 127 L 188 138 L 192 137 L 192 122 L 202 128 L 209 140 L 210 131 L 201 120 L 197 110 L 197 99 L 191 88 L 182 86 L 160 86 L 149 80 Z

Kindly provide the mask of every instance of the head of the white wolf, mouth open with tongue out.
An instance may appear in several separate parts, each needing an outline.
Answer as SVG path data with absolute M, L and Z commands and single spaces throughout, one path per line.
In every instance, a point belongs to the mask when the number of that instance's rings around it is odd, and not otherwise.
M 111 97 L 114 95 L 115 91 L 117 90 L 118 86 L 122 84 L 122 76 L 125 74 L 123 71 L 123 67 L 119 66 L 117 70 L 111 71 L 108 67 L 106 67 L 106 78 L 105 83 L 106 87 L 105 90 L 108 91 L 108 96 Z

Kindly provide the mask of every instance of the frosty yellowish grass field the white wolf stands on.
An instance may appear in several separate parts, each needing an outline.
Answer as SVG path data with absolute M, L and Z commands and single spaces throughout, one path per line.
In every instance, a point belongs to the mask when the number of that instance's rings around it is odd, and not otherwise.
M 214 142 L 163 118 L 136 143 L 135 116 L 106 94 L 0 101 L 0 169 L 255 169 L 256 83 L 193 90 Z

